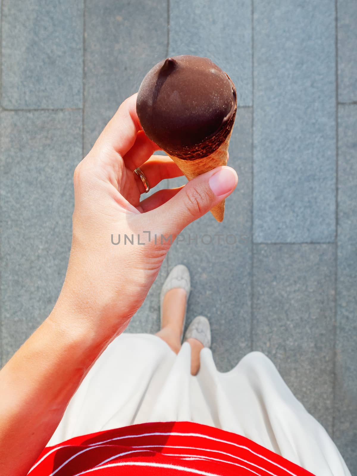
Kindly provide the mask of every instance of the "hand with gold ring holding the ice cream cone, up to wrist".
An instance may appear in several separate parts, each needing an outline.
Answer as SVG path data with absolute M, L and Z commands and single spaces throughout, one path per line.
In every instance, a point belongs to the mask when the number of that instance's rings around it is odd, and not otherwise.
M 218 167 L 183 187 L 159 190 L 140 201 L 145 190 L 134 169 L 142 169 L 151 188 L 182 172 L 169 157 L 150 157 L 159 147 L 141 130 L 136 96 L 121 104 L 74 172 L 72 248 L 56 304 L 65 302 L 74 311 L 69 314 L 107 332 L 108 338 L 128 326 L 172 241 L 238 182 L 233 169 Z M 150 241 L 145 232 L 150 232 Z M 134 243 L 125 243 L 125 235 Z M 138 236 L 145 244 L 138 244 Z

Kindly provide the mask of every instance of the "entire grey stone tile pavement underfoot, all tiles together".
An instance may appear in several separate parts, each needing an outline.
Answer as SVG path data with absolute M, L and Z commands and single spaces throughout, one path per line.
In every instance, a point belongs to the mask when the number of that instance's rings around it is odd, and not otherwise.
M 206 55 L 244 106 L 229 148 L 238 187 L 223 223 L 208 213 L 174 243 L 127 332 L 159 330 L 162 283 L 186 263 L 187 325 L 209 317 L 218 370 L 265 352 L 357 474 L 357 105 L 340 105 L 336 123 L 337 96 L 357 101 L 356 2 L 83 4 L 2 0 L 1 364 L 60 291 L 82 151 L 157 61 Z M 218 234 L 237 243 L 218 244 Z

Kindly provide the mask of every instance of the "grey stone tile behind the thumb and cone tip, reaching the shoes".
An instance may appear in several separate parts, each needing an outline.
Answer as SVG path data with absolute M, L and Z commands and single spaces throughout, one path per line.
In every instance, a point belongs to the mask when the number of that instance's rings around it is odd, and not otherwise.
M 186 328 L 194 317 L 208 317 L 220 371 L 234 367 L 251 346 L 251 109 L 238 109 L 228 163 L 239 182 L 226 200 L 223 222 L 208 212 L 185 228 L 179 236 L 184 241 L 177 238 L 169 250 L 169 270 L 183 263 L 191 274 Z M 178 187 L 186 178 L 169 183 Z

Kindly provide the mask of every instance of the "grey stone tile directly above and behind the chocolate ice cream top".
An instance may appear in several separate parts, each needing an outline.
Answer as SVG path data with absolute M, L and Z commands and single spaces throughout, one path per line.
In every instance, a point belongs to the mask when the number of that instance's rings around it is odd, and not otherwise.
M 251 106 L 250 0 L 171 0 L 169 10 L 169 55 L 208 57 L 233 80 L 238 106 Z

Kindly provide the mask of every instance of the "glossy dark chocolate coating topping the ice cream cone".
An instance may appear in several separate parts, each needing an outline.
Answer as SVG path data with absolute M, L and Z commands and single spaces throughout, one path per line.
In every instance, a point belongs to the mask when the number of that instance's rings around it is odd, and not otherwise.
M 143 79 L 137 113 L 143 130 L 181 159 L 206 157 L 224 142 L 237 110 L 236 88 L 208 58 L 160 61 Z

